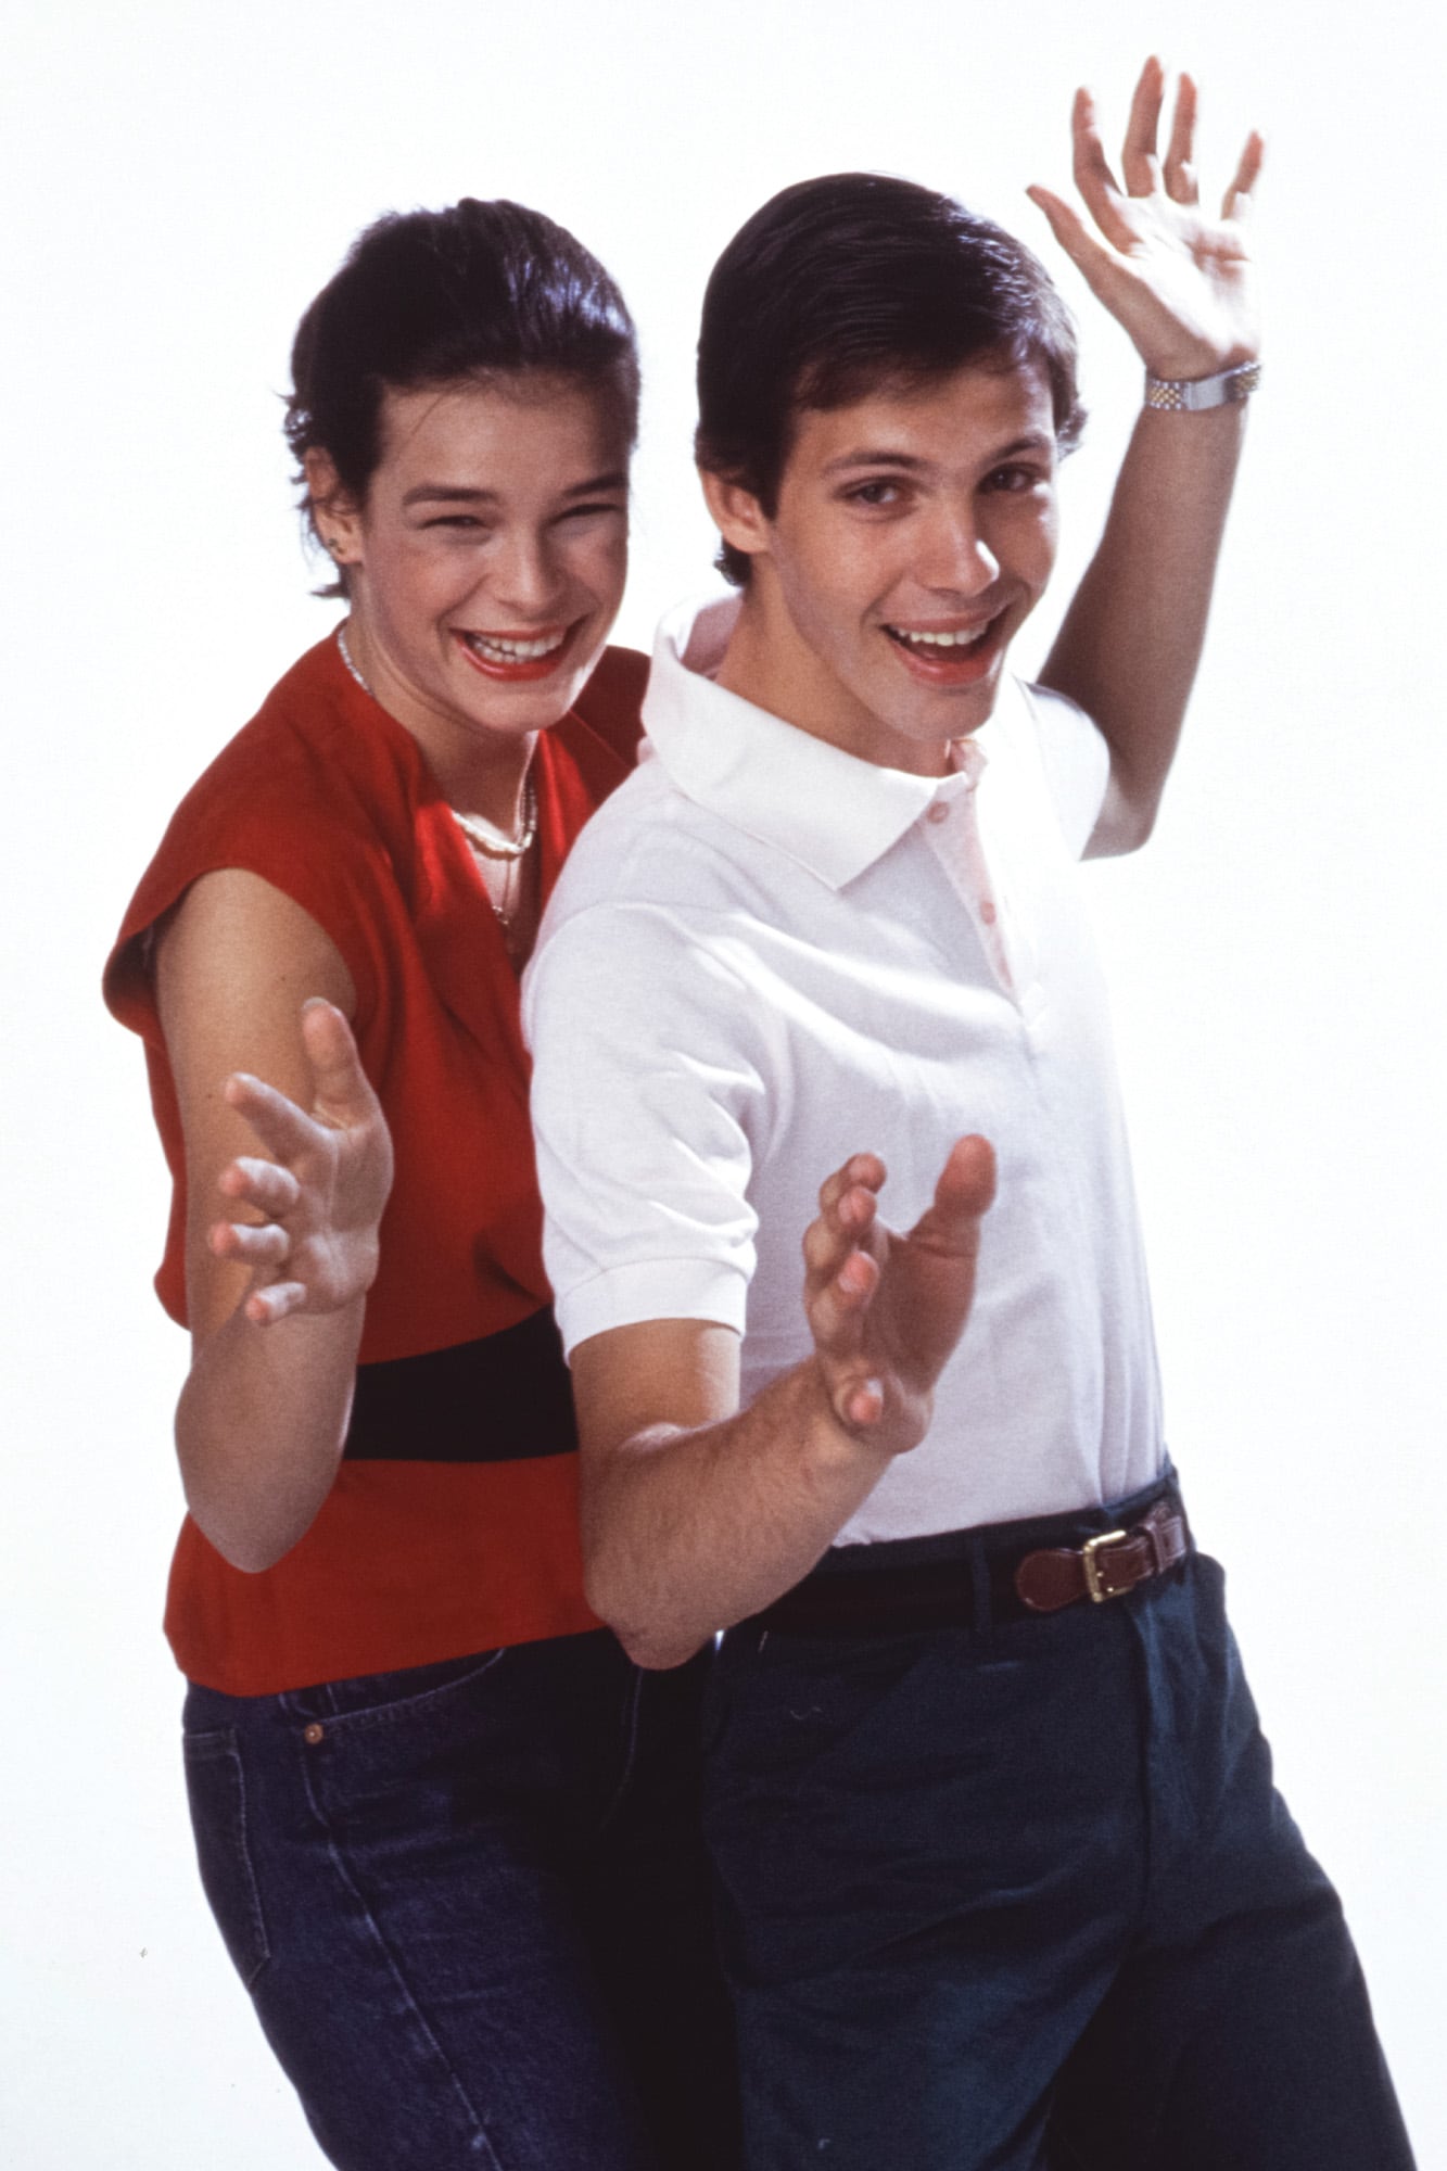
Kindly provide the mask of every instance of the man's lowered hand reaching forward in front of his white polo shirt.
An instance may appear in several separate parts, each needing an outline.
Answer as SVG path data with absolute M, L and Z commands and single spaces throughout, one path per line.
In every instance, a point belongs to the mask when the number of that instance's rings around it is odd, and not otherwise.
M 902 1455 L 930 1429 L 934 1383 L 969 1318 L 995 1155 L 984 1138 L 962 1138 L 906 1235 L 878 1218 L 882 1185 L 878 1155 L 856 1153 L 821 1188 L 804 1235 L 804 1311 L 839 1424 Z

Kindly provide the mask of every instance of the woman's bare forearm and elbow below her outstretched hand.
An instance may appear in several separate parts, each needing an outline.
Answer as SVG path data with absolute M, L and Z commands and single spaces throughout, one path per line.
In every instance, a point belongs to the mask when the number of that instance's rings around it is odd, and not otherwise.
M 365 1298 L 206 1335 L 176 1405 L 191 1515 L 232 1567 L 272 1567 L 306 1533 L 341 1459 Z

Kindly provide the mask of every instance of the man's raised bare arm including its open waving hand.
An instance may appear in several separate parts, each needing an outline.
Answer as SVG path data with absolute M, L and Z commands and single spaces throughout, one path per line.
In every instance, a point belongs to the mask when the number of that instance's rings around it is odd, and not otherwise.
M 1247 139 L 1221 217 L 1204 217 L 1195 85 L 1180 78 L 1165 161 L 1156 154 L 1162 89 L 1160 63 L 1147 61 L 1125 130 L 1125 187 L 1106 161 L 1093 100 L 1075 98 L 1075 185 L 1097 234 L 1047 189 L 1030 195 L 1145 367 L 1206 378 L 1260 354 L 1243 219 L 1262 145 Z M 1099 549 L 1045 664 L 1043 682 L 1078 701 L 1110 747 L 1091 853 L 1134 851 L 1156 821 L 1201 658 L 1243 436 L 1243 406 L 1141 415 Z

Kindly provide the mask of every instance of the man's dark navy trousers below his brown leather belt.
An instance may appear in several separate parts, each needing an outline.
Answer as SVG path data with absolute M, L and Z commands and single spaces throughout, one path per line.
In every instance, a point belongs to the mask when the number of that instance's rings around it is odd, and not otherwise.
M 1036 1620 L 973 1587 L 969 1626 L 724 1639 L 750 2171 L 1410 2171 L 1217 1563 Z

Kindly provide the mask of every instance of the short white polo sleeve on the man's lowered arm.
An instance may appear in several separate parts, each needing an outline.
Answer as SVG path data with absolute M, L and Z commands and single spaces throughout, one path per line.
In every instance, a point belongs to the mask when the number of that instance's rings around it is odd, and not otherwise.
M 719 949 L 667 907 L 589 905 L 545 929 L 524 1031 L 565 1350 L 645 1320 L 743 1333 L 765 1094 Z

